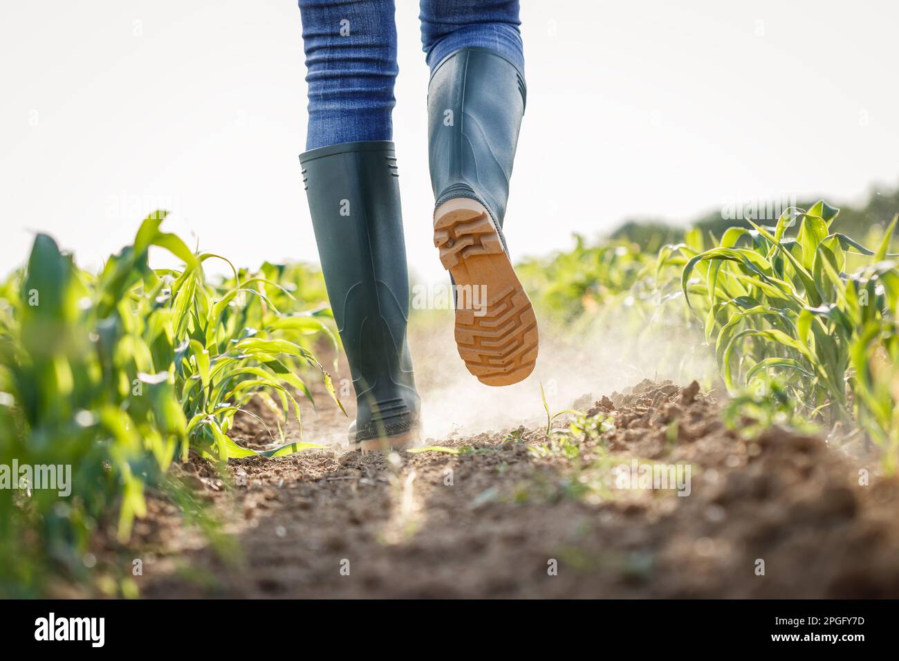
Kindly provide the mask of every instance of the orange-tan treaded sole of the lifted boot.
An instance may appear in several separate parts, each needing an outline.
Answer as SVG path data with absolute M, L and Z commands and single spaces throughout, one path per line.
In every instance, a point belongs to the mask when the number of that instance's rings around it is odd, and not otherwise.
M 456 307 L 456 345 L 468 371 L 487 386 L 527 378 L 537 363 L 537 317 L 484 206 L 456 198 L 434 211 L 441 264 L 470 303 Z M 477 292 L 476 294 L 474 292 Z

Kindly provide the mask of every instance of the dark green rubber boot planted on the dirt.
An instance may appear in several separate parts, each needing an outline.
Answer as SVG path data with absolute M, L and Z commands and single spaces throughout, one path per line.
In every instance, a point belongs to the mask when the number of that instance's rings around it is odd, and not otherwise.
M 418 439 L 421 400 L 406 346 L 409 279 L 393 142 L 348 142 L 299 157 L 318 255 L 356 391 L 360 450 Z

